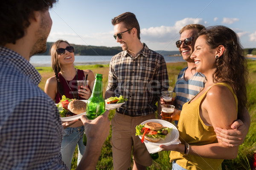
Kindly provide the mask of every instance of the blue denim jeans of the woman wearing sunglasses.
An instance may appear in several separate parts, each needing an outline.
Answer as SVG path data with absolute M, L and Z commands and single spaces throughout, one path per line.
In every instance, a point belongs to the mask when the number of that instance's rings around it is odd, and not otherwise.
M 82 155 L 85 151 L 85 146 L 83 144 L 83 134 L 84 134 L 84 126 L 80 127 L 67 127 L 64 129 L 64 134 L 61 142 L 61 155 L 62 160 L 67 165 L 69 169 L 71 169 L 72 158 L 76 149 L 76 145 L 78 144 L 78 159 L 77 164 L 82 158 Z

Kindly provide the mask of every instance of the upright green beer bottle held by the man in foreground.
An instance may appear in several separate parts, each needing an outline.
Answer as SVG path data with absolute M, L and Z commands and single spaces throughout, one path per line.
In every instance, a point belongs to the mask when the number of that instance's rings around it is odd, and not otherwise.
M 102 88 L 102 74 L 96 74 L 95 82 L 93 85 L 93 91 L 90 98 L 87 100 L 86 105 L 86 116 L 92 120 L 104 113 L 105 111 L 105 100 L 103 98 Z M 86 145 L 86 136 L 84 133 L 83 144 Z

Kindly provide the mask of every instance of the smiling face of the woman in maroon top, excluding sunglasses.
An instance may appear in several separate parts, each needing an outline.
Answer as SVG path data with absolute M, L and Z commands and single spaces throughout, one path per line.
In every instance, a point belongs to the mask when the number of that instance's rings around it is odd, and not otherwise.
M 68 45 L 66 42 L 61 42 L 58 46 L 58 48 L 67 48 Z M 62 55 L 58 55 L 58 59 L 61 65 L 70 64 L 75 61 L 75 55 L 74 53 L 70 53 L 69 51 L 65 50 L 65 53 Z

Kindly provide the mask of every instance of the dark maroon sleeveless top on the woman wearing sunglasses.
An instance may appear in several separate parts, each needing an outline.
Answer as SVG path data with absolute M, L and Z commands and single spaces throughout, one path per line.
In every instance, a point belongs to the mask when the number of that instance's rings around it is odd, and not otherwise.
M 60 79 L 60 83 L 61 83 L 61 87 L 63 88 L 64 95 L 69 99 L 74 99 L 74 97 L 73 97 L 73 94 L 74 94 L 75 99 L 78 99 L 79 96 L 77 93 L 78 87 L 77 87 L 76 80 L 85 80 L 84 71 L 77 69 L 77 78 L 75 75 L 75 77 L 72 80 L 67 81 L 67 82 L 60 73 L 58 73 L 58 77 Z M 70 91 L 70 88 L 72 91 Z M 72 92 L 73 92 L 73 94 L 72 94 Z M 55 97 L 55 103 L 59 103 L 61 98 L 62 98 L 62 96 L 57 90 L 57 94 Z

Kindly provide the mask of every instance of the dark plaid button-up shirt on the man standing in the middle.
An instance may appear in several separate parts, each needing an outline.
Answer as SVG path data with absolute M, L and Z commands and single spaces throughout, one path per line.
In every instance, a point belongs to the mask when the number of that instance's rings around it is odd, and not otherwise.
M 145 116 L 157 111 L 155 105 L 161 89 L 169 88 L 166 62 L 162 55 L 144 45 L 141 53 L 132 58 L 128 51 L 112 57 L 107 90 L 128 100 L 118 112 L 130 116 Z

